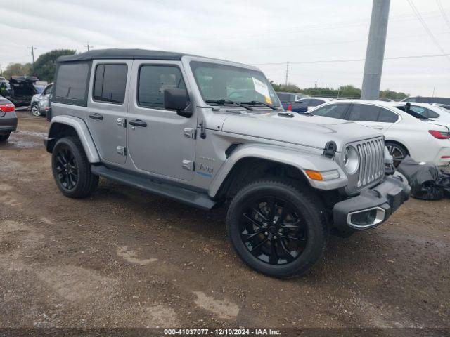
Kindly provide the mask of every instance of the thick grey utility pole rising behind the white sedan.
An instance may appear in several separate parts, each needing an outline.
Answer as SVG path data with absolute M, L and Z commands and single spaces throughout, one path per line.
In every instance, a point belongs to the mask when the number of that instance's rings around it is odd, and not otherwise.
M 361 99 L 378 100 L 385 58 L 387 20 L 390 0 L 373 0 L 371 27 L 368 32 Z

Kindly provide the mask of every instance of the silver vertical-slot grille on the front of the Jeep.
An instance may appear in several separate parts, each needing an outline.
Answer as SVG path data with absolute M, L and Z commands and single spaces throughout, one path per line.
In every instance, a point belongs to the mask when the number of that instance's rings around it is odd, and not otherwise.
M 385 139 L 375 138 L 354 144 L 359 154 L 357 186 L 364 187 L 385 175 Z

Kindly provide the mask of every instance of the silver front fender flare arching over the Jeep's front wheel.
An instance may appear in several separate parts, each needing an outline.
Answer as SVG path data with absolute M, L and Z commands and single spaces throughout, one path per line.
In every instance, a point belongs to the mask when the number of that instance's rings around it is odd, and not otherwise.
M 300 152 L 298 150 L 276 145 L 240 145 L 231 156 L 226 159 L 226 162 L 221 166 L 219 173 L 214 177 L 208 192 L 210 197 L 215 197 L 217 195 L 222 183 L 224 183 L 233 167 L 238 161 L 245 158 L 265 159 L 293 166 L 304 174 L 312 187 L 319 190 L 335 190 L 340 187 L 345 187 L 348 184 L 347 176 L 340 166 L 332 159 L 323 157 L 320 154 Z M 311 180 L 307 174 L 304 173 L 305 170 L 321 172 L 338 170 L 339 178 L 326 181 Z

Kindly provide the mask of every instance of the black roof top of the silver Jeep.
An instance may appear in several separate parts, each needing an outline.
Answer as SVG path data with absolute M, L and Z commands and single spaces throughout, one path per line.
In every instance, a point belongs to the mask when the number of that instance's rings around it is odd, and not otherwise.
M 143 60 L 181 60 L 184 53 L 173 53 L 171 51 L 148 51 L 146 49 L 95 49 L 86 53 L 60 56 L 58 62 L 74 62 L 86 60 L 105 59 L 143 59 Z

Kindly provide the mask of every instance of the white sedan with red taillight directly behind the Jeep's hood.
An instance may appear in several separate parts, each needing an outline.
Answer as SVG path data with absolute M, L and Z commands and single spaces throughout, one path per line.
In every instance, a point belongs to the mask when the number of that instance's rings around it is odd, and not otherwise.
M 335 100 L 311 114 L 346 119 L 375 128 L 385 136 L 386 147 L 394 164 L 410 155 L 416 161 L 439 166 L 450 163 L 450 124 L 404 112 L 401 103 L 379 100 Z

